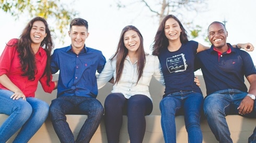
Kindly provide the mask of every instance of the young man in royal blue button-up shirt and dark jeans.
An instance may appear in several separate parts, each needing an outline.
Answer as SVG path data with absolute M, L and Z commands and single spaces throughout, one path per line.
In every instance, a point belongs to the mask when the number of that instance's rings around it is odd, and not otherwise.
M 106 59 L 101 51 L 85 46 L 88 23 L 75 18 L 68 31 L 71 45 L 55 49 L 51 59 L 51 71 L 60 70 L 57 98 L 52 100 L 50 117 L 61 142 L 89 142 L 98 128 L 103 107 L 96 99 L 98 94 L 96 71 L 100 73 Z M 66 122 L 66 114 L 88 116 L 75 141 Z

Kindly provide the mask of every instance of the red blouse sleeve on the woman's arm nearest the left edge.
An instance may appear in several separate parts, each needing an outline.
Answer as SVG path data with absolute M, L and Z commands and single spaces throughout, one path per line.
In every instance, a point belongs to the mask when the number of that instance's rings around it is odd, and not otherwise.
M 0 57 L 0 75 L 7 74 L 10 70 L 11 61 L 14 58 L 14 53 L 16 52 L 16 45 L 18 39 L 11 39 L 5 46 L 5 49 Z

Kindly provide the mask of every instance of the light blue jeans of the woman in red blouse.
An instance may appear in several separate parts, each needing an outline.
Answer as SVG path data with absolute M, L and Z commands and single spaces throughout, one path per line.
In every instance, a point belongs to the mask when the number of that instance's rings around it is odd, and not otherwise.
M 0 113 L 9 115 L 0 127 L 0 142 L 6 142 L 20 129 L 14 142 L 28 142 L 46 120 L 48 103 L 33 97 L 26 100 L 10 98 L 14 93 L 0 89 Z

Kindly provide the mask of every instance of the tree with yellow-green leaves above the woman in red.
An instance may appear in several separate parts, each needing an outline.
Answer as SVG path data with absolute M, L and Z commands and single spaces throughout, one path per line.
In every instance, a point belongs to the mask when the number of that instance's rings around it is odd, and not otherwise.
M 77 11 L 68 9 L 68 7 L 70 5 L 63 4 L 60 0 L 0 0 L 0 9 L 14 16 L 16 20 L 21 14 L 28 15 L 29 19 L 35 16 L 47 19 L 51 31 L 60 32 L 59 40 L 62 43 L 66 35 L 65 27 L 78 15 Z

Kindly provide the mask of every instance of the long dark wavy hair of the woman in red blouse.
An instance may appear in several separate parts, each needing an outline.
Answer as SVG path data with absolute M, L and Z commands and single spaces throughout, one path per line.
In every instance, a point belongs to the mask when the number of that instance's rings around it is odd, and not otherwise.
M 21 35 L 19 36 L 19 41 L 17 45 L 17 51 L 19 53 L 20 58 L 20 65 L 21 70 L 24 72 L 22 76 L 28 76 L 28 80 L 33 81 L 35 79 L 35 74 L 37 71 L 36 67 L 36 60 L 34 57 L 33 50 L 31 48 L 31 37 L 30 37 L 30 31 L 32 29 L 33 23 L 36 21 L 42 21 L 45 25 L 45 32 L 46 37 L 41 42 L 41 45 L 44 50 L 46 51 L 47 55 L 47 61 L 46 61 L 46 67 L 44 70 L 44 74 L 47 76 L 47 84 L 50 85 L 50 77 L 51 77 L 51 71 L 50 71 L 50 56 L 51 51 L 54 47 L 52 36 L 50 33 L 50 29 L 48 27 L 48 23 L 46 20 L 42 17 L 35 17 L 32 20 L 29 21 L 29 23 L 26 25 L 25 29 L 22 31 Z

